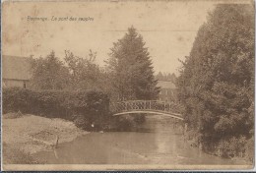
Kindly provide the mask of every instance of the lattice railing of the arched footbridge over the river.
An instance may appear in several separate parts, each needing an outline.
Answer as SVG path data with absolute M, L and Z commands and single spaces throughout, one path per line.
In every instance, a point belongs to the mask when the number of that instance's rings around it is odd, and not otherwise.
M 129 100 L 112 104 L 113 112 L 134 110 L 156 110 L 169 113 L 181 113 L 182 107 L 174 102 L 163 102 L 159 100 Z

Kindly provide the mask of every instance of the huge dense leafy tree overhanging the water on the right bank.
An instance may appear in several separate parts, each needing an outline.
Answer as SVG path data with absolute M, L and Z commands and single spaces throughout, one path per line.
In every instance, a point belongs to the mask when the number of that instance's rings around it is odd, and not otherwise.
M 183 62 L 179 99 L 193 138 L 206 150 L 252 158 L 254 46 L 253 6 L 218 5 Z

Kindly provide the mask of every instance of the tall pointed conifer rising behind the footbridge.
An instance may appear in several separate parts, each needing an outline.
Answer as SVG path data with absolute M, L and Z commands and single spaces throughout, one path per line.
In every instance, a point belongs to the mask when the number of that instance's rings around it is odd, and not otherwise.
M 143 37 L 133 27 L 114 43 L 107 63 L 119 99 L 158 97 L 150 53 Z

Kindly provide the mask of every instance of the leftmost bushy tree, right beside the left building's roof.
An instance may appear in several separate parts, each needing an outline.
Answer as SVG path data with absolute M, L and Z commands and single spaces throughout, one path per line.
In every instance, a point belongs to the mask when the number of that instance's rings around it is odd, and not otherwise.
M 32 87 L 63 89 L 69 85 L 69 71 L 52 51 L 45 58 L 32 60 Z

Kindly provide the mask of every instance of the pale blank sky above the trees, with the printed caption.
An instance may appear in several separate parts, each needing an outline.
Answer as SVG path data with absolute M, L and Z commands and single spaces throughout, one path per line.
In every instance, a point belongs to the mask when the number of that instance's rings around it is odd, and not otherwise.
M 198 29 L 216 2 L 6 2 L 2 50 L 4 55 L 34 57 L 45 57 L 53 50 L 63 58 L 65 50 L 86 57 L 92 49 L 97 52 L 96 63 L 103 66 L 113 42 L 133 26 L 149 48 L 155 72 L 178 75 L 178 59 L 189 55 Z

